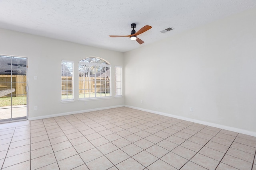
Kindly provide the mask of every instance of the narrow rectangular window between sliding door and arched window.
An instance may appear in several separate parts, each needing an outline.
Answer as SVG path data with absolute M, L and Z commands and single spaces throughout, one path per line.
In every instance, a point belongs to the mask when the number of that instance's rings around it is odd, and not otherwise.
M 74 62 L 61 61 L 61 100 L 74 100 Z

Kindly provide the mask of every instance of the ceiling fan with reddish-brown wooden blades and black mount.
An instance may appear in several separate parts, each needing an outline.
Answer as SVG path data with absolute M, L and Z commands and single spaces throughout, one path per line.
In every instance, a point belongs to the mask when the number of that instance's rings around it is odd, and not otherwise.
M 141 39 L 139 39 L 137 37 L 137 35 L 140 35 L 142 33 L 144 33 L 145 31 L 148 31 L 148 29 L 152 28 L 149 25 L 145 25 L 144 27 L 142 27 L 139 31 L 135 31 L 134 28 L 136 28 L 136 23 L 132 23 L 131 24 L 132 27 L 132 33 L 131 35 L 109 35 L 110 37 L 129 37 L 131 40 L 136 40 L 139 44 L 144 43 L 144 41 L 142 41 Z

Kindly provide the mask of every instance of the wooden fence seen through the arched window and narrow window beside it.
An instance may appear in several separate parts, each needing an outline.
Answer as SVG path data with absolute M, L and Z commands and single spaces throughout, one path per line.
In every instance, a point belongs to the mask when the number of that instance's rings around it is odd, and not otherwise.
M 68 82 L 68 83 L 67 83 Z M 62 76 L 62 90 L 72 90 L 72 77 L 71 76 Z M 97 92 L 100 93 L 109 93 L 110 86 L 109 82 L 106 83 L 104 77 L 96 77 L 96 83 L 94 77 L 79 77 L 79 94 L 95 92 L 95 87 Z M 70 92 L 71 94 L 72 92 Z M 66 95 L 66 92 L 62 92 L 63 95 Z

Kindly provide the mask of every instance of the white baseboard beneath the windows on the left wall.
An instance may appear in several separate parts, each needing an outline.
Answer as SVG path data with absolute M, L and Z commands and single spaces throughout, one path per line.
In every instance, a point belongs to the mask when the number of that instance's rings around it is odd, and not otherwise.
M 72 115 L 72 114 L 77 114 L 77 113 L 85 113 L 85 112 L 89 112 L 89 111 L 112 109 L 112 108 L 116 108 L 116 107 L 124 107 L 124 105 L 100 107 L 100 108 L 95 108 L 95 109 L 87 109 L 87 110 L 79 110 L 79 111 L 71 111 L 71 112 L 66 112 L 66 113 L 57 113 L 57 114 L 37 116 L 37 117 L 28 117 L 28 120 L 31 121 L 31 120 L 38 120 L 38 119 L 46 119 L 46 118 L 50 118 L 50 117 L 58 117 L 58 116 Z

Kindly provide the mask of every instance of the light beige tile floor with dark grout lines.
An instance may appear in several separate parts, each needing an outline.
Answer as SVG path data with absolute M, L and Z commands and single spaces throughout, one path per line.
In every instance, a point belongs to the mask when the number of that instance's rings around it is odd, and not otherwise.
M 3 170 L 256 170 L 256 137 L 127 107 L 0 124 Z

